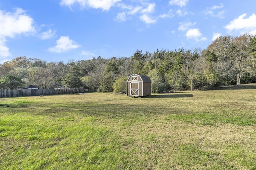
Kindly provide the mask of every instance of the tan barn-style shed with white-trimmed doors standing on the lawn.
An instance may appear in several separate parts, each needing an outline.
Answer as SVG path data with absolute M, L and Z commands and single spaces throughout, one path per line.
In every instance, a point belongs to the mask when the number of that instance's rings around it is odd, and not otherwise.
M 151 94 L 151 80 L 142 74 L 132 74 L 126 81 L 127 96 L 143 97 Z

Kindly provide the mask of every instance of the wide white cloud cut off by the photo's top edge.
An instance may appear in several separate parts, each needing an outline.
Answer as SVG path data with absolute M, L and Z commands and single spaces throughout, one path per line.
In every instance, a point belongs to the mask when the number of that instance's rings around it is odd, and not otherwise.
M 108 11 L 117 2 L 122 0 L 61 0 L 60 5 L 73 6 L 74 4 L 79 4 L 81 8 L 90 7 L 96 9 L 102 9 Z

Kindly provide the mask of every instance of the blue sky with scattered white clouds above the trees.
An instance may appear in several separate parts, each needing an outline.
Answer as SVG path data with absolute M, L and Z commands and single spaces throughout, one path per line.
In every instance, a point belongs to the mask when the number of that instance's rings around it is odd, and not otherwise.
M 256 34 L 256 0 L 0 0 L 0 64 L 131 57 Z

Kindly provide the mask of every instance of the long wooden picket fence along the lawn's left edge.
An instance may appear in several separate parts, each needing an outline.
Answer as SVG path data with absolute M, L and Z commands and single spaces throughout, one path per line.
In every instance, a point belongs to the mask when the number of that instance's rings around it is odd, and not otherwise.
M 22 96 L 40 96 L 53 94 L 74 94 L 82 93 L 85 90 L 82 88 L 69 89 L 22 89 L 22 90 L 0 90 L 0 98 L 12 98 Z M 88 91 L 88 90 L 86 90 Z

